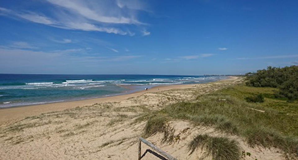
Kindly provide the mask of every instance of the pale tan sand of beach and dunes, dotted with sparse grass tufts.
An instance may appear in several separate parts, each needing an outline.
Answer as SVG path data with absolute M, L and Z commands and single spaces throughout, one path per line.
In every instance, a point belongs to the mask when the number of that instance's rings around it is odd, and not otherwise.
M 159 86 L 115 97 L 2 109 L 0 159 L 137 159 L 138 137 L 146 124 L 134 123 L 140 114 L 240 81 L 233 77 L 208 84 Z M 204 150 L 191 155 L 187 150 L 187 144 L 198 133 L 238 141 L 242 150 L 251 153 L 243 159 L 282 159 L 278 149 L 251 148 L 242 138 L 216 132 L 212 127 L 194 127 L 185 121 L 172 121 L 170 126 L 174 135 L 180 135 L 179 140 L 161 143 L 162 134 L 147 140 L 178 159 L 203 156 Z M 143 153 L 146 149 L 142 145 Z M 147 153 L 142 159 L 158 158 Z

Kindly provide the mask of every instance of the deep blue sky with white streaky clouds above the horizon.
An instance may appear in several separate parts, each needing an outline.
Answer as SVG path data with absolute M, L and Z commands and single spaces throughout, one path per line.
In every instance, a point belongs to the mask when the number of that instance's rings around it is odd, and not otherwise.
M 244 74 L 298 64 L 297 0 L 0 0 L 0 73 Z

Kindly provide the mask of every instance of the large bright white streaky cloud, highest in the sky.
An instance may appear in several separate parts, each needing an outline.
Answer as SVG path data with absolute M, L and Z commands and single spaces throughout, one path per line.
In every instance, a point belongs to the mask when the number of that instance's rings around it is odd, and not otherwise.
M 46 0 L 52 6 L 52 13 L 44 15 L 32 11 L 13 11 L 0 7 L 0 15 L 25 19 L 34 23 L 56 28 L 98 31 L 133 36 L 127 25 L 146 25 L 136 17 L 144 5 L 139 0 Z M 49 16 L 51 15 L 51 16 Z M 123 26 L 125 24 L 125 26 Z M 124 30 L 121 29 L 125 28 Z M 150 32 L 143 32 L 149 35 Z

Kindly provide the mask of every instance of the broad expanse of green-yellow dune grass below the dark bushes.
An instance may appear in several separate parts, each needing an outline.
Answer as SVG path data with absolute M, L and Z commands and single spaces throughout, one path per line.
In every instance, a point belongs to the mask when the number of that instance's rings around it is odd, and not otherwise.
M 195 101 L 170 104 L 161 110 L 146 113 L 136 121 L 147 120 L 144 132 L 151 135 L 155 132 L 165 133 L 169 120 L 188 120 L 195 126 L 212 126 L 219 131 L 241 136 L 251 147 L 275 147 L 297 157 L 298 105 L 297 102 L 275 98 L 275 91 L 273 88 L 236 85 L 198 95 Z M 264 102 L 246 102 L 246 97 L 258 94 L 264 95 Z

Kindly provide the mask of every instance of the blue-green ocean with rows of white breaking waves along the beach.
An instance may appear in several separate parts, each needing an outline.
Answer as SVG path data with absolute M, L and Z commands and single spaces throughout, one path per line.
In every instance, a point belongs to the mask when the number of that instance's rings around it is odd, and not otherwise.
M 133 93 L 157 85 L 207 83 L 226 76 L 0 74 L 0 108 Z

